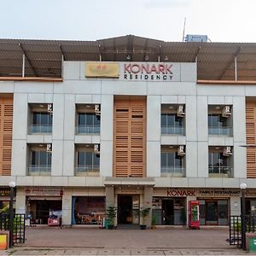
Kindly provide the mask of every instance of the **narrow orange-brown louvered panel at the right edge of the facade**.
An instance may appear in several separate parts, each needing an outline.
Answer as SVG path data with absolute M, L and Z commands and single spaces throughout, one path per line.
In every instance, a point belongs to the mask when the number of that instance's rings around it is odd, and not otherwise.
M 246 130 L 247 144 L 255 144 L 256 103 L 247 102 Z M 256 148 L 247 148 L 247 177 L 256 177 Z

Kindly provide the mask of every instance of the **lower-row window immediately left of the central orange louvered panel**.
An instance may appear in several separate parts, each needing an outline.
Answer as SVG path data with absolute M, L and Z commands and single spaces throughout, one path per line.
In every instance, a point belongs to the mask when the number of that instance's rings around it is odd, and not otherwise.
M 98 176 L 100 171 L 100 154 L 90 151 L 77 152 L 76 175 Z

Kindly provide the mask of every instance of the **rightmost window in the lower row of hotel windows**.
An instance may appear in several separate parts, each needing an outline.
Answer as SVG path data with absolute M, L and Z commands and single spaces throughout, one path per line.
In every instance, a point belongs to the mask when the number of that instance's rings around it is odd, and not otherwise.
M 208 156 L 209 177 L 230 177 L 229 157 L 219 152 L 210 152 Z

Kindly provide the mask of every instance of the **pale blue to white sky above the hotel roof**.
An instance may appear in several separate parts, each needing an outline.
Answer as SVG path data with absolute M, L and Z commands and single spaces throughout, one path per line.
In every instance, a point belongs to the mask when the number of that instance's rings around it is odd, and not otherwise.
M 0 38 L 256 42 L 256 0 L 0 0 Z

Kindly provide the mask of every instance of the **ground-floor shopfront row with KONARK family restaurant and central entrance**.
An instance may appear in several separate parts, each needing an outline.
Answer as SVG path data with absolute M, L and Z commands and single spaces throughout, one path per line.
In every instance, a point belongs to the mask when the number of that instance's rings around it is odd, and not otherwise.
M 6 200 L 7 197 L 4 197 Z M 26 213 L 32 224 L 47 224 L 52 212 L 61 212 L 62 224 L 102 225 L 106 209 L 116 207 L 115 224 L 142 224 L 140 210 L 150 207 L 148 226 L 187 225 L 189 201 L 199 201 L 201 225 L 228 225 L 239 215 L 240 189 L 172 189 L 153 186 L 104 188 L 17 188 L 16 212 Z M 247 213 L 256 209 L 256 189 L 247 190 Z

